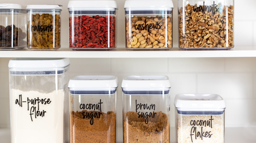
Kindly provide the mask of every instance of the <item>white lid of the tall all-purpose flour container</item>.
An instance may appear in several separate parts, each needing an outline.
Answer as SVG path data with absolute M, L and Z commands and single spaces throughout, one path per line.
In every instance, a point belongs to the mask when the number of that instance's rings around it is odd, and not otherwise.
M 70 64 L 69 58 L 15 58 L 9 61 L 8 67 L 20 69 L 63 68 Z

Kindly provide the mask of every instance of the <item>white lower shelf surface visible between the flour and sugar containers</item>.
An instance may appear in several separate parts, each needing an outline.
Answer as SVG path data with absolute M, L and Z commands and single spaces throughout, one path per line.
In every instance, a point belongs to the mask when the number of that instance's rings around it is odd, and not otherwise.
M 175 143 L 175 129 L 172 127 L 170 132 L 170 143 Z M 120 136 L 122 129 L 118 128 L 119 133 L 117 142 L 122 142 L 122 136 Z M 225 143 L 255 143 L 256 127 L 227 127 L 225 128 Z M 0 141 L 3 143 L 11 143 L 10 129 L 0 129 Z

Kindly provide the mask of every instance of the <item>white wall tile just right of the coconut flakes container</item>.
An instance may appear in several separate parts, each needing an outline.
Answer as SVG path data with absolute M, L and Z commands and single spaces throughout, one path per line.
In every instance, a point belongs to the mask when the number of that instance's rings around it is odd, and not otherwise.
M 255 99 L 228 99 L 225 103 L 225 127 L 256 125 Z

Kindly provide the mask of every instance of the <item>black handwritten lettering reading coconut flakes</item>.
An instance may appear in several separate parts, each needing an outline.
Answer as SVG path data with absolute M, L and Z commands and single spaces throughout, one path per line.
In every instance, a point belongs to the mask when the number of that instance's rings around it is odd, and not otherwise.
M 200 139 L 203 140 L 203 137 L 209 137 L 211 138 L 211 136 L 213 134 L 211 134 L 210 132 L 203 132 L 203 127 L 210 127 L 212 128 L 212 116 L 210 119 L 208 120 L 191 120 L 190 121 L 190 125 L 192 126 L 191 128 L 191 132 L 190 132 L 190 137 L 191 137 L 191 141 L 193 142 L 193 138 L 195 139 Z M 196 126 L 201 126 L 201 128 L 197 128 Z

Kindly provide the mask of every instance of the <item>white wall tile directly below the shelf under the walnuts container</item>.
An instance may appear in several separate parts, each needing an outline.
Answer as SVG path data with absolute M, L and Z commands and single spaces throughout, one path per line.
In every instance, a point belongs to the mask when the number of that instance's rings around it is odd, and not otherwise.
M 169 58 L 169 72 L 223 72 L 224 58 Z

